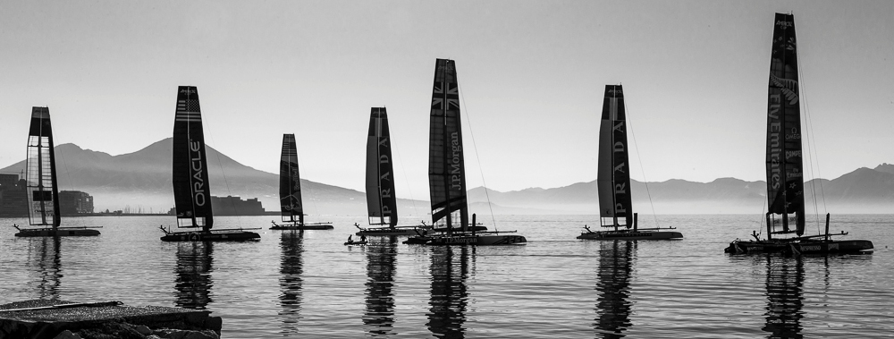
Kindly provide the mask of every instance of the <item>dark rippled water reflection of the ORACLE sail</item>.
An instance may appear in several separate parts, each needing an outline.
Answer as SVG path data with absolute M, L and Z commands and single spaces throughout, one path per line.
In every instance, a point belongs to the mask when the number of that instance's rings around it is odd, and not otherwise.
M 206 309 L 211 302 L 213 242 L 181 242 L 177 245 L 175 304 L 187 309 Z

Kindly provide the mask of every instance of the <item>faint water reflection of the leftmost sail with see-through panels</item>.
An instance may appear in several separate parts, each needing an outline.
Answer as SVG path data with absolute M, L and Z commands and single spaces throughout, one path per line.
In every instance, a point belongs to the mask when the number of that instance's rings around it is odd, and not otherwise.
M 29 261 L 37 275 L 38 299 L 59 299 L 59 285 L 62 280 L 62 252 L 59 237 L 30 239 Z M 33 250 L 33 252 L 32 252 Z

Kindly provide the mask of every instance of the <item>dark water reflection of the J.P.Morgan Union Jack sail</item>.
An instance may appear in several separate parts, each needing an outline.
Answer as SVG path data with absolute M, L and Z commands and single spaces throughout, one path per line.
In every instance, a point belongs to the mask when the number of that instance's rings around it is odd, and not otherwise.
M 475 247 L 434 246 L 431 248 L 432 290 L 428 304 L 428 330 L 438 338 L 462 338 L 468 306 L 469 257 L 475 261 Z

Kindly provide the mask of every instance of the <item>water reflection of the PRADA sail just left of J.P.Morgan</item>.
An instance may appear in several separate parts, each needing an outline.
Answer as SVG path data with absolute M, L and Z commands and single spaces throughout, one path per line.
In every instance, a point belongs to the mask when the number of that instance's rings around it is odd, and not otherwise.
M 367 251 L 367 309 L 363 323 L 371 326 L 371 336 L 395 335 L 394 325 L 394 272 L 397 269 L 397 237 L 390 236 L 385 242 L 370 243 Z

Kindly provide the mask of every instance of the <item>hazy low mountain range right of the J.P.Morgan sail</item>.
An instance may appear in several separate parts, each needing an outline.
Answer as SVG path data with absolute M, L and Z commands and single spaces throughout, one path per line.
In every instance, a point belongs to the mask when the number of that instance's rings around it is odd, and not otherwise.
M 633 181 L 634 209 L 643 214 L 735 214 L 766 210 L 766 182 L 721 178 L 713 182 Z M 830 213 L 894 212 L 894 165 L 859 168 L 834 180 L 805 182 L 805 208 Z M 554 212 L 595 214 L 599 210 L 596 182 L 578 182 L 554 189 L 468 191 L 470 202 L 489 201 L 503 208 L 539 208 Z

